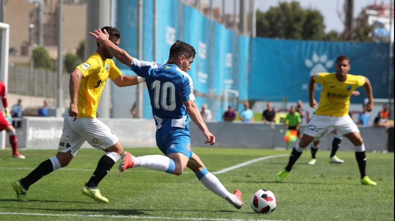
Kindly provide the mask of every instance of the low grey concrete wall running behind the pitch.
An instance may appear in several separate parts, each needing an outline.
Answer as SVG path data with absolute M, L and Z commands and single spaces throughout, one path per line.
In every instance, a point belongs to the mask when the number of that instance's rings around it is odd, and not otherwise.
M 100 118 L 99 118 L 100 119 Z M 100 119 L 118 136 L 124 147 L 156 147 L 155 123 L 153 119 Z M 192 146 L 205 146 L 205 138 L 197 126 L 191 122 Z M 216 137 L 217 147 L 274 148 L 285 147 L 284 125 L 241 122 L 208 122 L 207 127 Z M 56 149 L 62 134 L 63 118 L 23 117 L 22 127 L 16 130 L 19 148 Z M 301 128 L 303 132 L 304 128 Z M 368 151 L 387 150 L 386 128 L 359 128 Z M 333 134 L 325 134 L 321 149 L 331 149 Z M 291 143 L 292 148 L 296 142 Z M 10 146 L 6 139 L 6 146 Z M 88 147 L 85 142 L 83 147 Z M 340 150 L 354 150 L 351 142 L 344 138 Z

